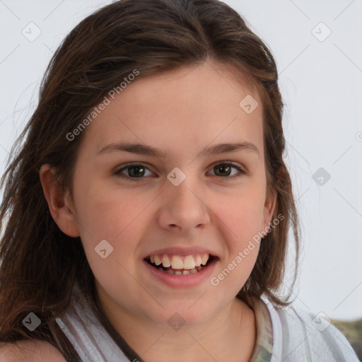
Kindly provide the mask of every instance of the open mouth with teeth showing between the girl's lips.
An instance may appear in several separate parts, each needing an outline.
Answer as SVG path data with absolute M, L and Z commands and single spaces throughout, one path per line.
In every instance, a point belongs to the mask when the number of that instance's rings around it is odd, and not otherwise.
M 209 267 L 218 257 L 209 254 L 202 255 L 151 255 L 144 258 L 151 267 L 166 274 L 182 276 L 197 274 Z

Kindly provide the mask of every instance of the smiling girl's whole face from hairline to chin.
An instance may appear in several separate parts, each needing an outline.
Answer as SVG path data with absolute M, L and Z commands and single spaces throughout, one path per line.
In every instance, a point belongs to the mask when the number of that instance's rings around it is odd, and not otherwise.
M 74 214 L 107 308 L 161 325 L 179 313 L 197 325 L 245 284 L 259 246 L 235 258 L 265 229 L 273 204 L 262 103 L 235 79 L 208 63 L 136 79 L 83 131 Z M 259 103 L 251 113 L 239 105 L 247 95 Z M 249 146 L 214 148 L 237 143 Z M 213 149 L 223 152 L 205 151 Z

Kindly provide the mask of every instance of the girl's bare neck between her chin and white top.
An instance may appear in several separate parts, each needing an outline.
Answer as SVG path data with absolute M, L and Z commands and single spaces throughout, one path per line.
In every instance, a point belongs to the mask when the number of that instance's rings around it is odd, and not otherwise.
M 128 313 L 103 293 L 97 299 L 112 327 L 147 362 L 246 362 L 255 348 L 255 315 L 238 298 L 209 320 L 177 330 Z

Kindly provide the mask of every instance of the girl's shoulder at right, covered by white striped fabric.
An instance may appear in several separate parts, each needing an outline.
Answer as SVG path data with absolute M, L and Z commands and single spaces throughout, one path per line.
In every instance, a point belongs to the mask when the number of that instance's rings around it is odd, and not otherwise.
M 290 361 L 358 362 L 354 349 L 332 325 L 325 313 L 313 313 L 296 306 L 268 305 L 273 328 L 273 351 Z M 282 358 L 282 359 L 283 359 Z M 289 359 L 286 361 L 289 361 Z

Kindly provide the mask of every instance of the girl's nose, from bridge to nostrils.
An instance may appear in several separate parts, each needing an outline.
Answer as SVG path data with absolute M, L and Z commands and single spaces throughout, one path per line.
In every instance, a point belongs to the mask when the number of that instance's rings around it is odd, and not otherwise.
M 210 223 L 209 208 L 203 196 L 202 186 L 197 187 L 197 182 L 189 176 L 178 186 L 168 182 L 162 195 L 160 226 L 182 233 L 207 226 Z

